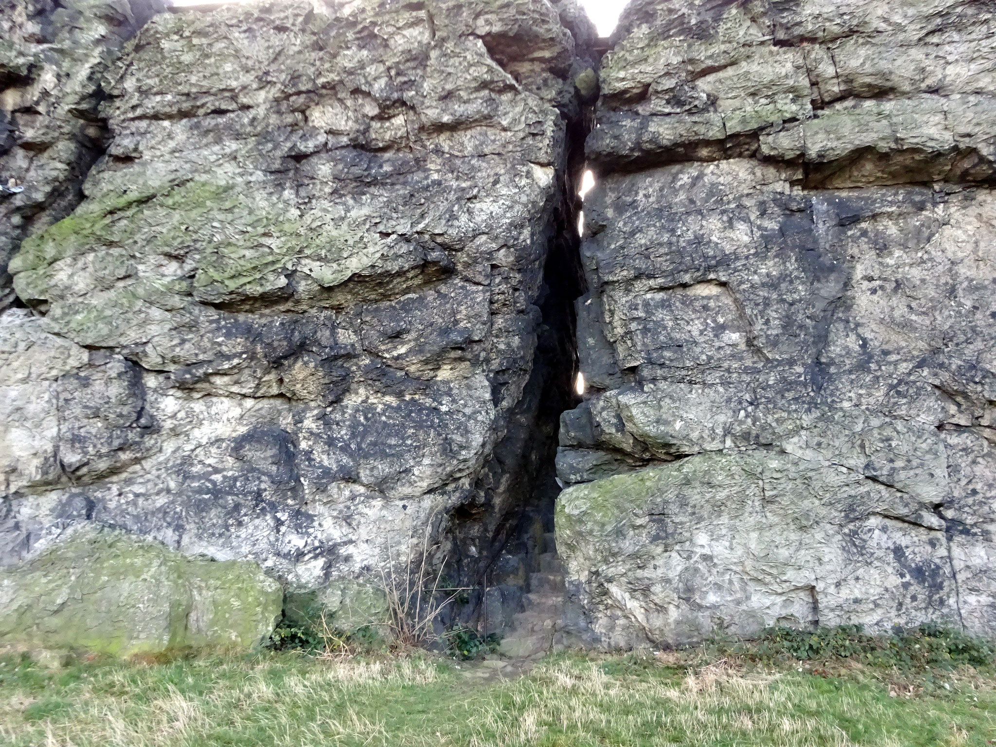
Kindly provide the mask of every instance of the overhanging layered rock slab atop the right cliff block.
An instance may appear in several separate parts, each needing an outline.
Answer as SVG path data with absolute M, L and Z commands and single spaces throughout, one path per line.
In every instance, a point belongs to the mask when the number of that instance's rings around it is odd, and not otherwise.
M 989 179 L 994 31 L 968 0 L 633 0 L 589 155 L 802 160 L 807 186 Z

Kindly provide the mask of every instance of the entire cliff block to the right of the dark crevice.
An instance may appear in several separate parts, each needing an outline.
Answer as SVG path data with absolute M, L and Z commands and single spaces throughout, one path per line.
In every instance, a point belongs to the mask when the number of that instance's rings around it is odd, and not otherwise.
M 569 627 L 996 632 L 996 5 L 634 0 L 615 41 Z

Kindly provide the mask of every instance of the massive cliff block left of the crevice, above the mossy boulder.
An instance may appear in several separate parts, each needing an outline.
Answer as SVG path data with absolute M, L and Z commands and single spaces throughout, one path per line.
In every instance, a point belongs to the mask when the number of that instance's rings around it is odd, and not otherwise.
M 342 606 L 428 533 L 472 582 L 570 397 L 591 39 L 570 0 L 150 21 L 10 263 L 3 562 L 97 522 Z

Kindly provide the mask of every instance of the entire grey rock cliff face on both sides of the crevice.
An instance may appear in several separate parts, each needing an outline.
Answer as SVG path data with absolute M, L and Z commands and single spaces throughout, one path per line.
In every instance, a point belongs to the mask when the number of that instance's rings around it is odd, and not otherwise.
M 0 2 L 0 642 L 996 633 L 996 3 Z

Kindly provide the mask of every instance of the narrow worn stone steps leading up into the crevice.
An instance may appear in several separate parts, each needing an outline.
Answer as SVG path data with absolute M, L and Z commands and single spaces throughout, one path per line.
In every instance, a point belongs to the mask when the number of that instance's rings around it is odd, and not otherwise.
M 512 631 L 502 638 L 499 651 L 510 658 L 540 658 L 557 643 L 564 615 L 564 567 L 557 554 L 554 533 L 543 535 L 540 570 L 529 575 L 525 610 L 513 618 Z

